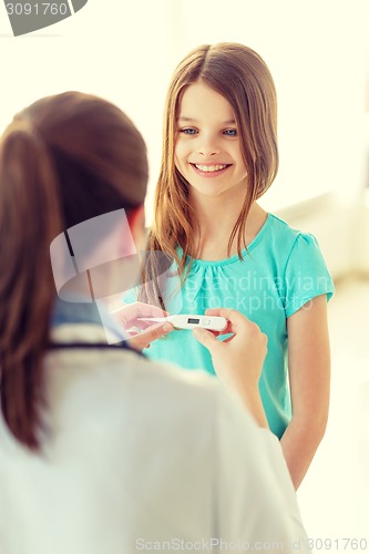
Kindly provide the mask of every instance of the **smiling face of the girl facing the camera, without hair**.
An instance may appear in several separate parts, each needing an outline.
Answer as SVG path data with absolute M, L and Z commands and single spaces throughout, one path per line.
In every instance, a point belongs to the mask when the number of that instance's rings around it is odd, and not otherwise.
M 246 166 L 230 104 L 198 81 L 184 92 L 176 122 L 175 166 L 189 194 L 245 192 Z

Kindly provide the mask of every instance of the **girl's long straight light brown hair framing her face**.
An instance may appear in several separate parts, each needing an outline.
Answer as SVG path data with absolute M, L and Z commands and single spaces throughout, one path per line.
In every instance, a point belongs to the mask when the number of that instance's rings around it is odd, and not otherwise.
M 237 252 L 242 259 L 250 206 L 269 188 L 278 170 L 276 90 L 263 59 L 254 50 L 230 42 L 205 44 L 189 52 L 177 65 L 166 96 L 162 166 L 155 192 L 154 223 L 148 237 L 148 248 L 174 257 L 182 277 L 187 255 L 194 253 L 193 229 L 196 220 L 188 203 L 188 184 L 174 163 L 176 120 L 184 91 L 197 81 L 229 102 L 248 175 L 245 202 L 229 236 L 228 254 L 237 238 Z M 181 258 L 176 253 L 177 246 L 183 249 Z M 151 271 L 156 273 L 155 268 Z

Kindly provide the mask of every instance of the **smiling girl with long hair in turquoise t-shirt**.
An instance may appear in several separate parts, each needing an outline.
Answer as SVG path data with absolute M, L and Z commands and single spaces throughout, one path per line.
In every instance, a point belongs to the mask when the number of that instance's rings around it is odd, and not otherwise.
M 334 284 L 316 238 L 257 203 L 277 168 L 276 91 L 263 59 L 237 43 L 192 51 L 168 89 L 148 240 L 174 257 L 181 277 L 181 290 L 167 279 L 162 305 L 182 314 L 237 309 L 267 335 L 259 390 L 298 488 L 327 423 Z M 214 373 L 209 352 L 185 330 L 147 355 Z

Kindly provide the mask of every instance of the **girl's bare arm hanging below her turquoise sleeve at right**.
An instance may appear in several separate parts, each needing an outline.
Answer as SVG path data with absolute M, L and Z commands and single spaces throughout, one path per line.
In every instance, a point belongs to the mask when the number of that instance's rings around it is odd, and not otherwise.
M 287 319 L 293 418 L 280 443 L 297 490 L 325 434 L 330 389 L 326 295 Z

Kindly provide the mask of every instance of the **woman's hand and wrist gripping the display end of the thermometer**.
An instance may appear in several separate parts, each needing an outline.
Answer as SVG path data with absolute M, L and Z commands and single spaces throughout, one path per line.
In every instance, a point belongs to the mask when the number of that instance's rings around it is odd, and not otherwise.
M 221 381 L 240 397 L 260 427 L 268 427 L 258 389 L 267 353 L 266 335 L 239 311 L 214 308 L 205 314 L 226 318 L 228 326 L 222 335 L 232 336 L 222 341 L 213 332 L 201 328 L 193 330 L 194 336 L 211 352 Z

